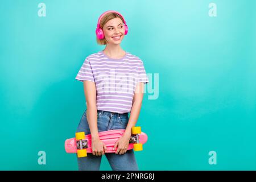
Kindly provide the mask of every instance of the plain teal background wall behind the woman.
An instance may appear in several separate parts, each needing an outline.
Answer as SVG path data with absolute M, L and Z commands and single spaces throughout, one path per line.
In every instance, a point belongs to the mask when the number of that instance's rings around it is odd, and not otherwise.
M 210 2 L 217 17 L 208 15 Z M 148 134 L 135 153 L 139 169 L 255 170 L 255 9 L 242 0 L 1 1 L 0 169 L 77 170 L 64 150 L 86 108 L 75 77 L 105 47 L 96 43 L 98 17 L 117 10 L 129 27 L 122 48 L 153 77 L 137 124 Z M 111 170 L 105 156 L 101 169 Z

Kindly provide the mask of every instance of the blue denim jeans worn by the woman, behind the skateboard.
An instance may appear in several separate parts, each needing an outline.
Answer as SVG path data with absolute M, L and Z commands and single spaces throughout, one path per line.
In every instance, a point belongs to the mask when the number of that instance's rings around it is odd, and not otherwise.
M 97 110 L 97 125 L 98 132 L 107 130 L 118 130 L 126 129 L 127 123 L 129 121 L 128 113 L 119 114 L 112 113 L 109 111 Z M 76 132 L 84 131 L 85 135 L 90 134 L 90 128 L 86 118 L 86 110 L 82 115 L 79 126 Z M 121 171 L 137 171 L 138 165 L 135 159 L 134 151 L 127 150 L 125 154 L 115 154 L 115 153 L 105 153 L 106 158 L 113 170 Z M 78 167 L 80 171 L 97 171 L 100 170 L 101 157 L 87 154 L 85 158 L 77 158 Z

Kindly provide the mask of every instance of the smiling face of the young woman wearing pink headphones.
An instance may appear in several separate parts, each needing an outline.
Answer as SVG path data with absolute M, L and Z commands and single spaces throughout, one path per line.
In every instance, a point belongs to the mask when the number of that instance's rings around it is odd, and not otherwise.
M 104 25 L 103 32 L 109 44 L 120 44 L 125 36 L 125 26 L 120 18 L 114 18 Z

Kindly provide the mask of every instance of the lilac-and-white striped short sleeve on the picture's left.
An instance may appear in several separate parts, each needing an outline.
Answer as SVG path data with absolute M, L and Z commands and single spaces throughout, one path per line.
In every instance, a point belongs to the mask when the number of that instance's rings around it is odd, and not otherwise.
M 79 72 L 76 75 L 76 80 L 84 81 L 89 80 L 95 82 L 92 72 L 92 66 L 90 65 L 90 61 L 86 58 L 82 67 L 80 68 Z

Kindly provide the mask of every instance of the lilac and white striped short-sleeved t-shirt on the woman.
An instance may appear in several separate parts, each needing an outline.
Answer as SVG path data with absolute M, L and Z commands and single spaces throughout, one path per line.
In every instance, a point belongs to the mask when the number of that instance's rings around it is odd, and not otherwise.
M 97 110 L 121 114 L 131 111 L 137 82 L 148 83 L 143 61 L 129 52 L 121 59 L 103 51 L 89 55 L 75 79 L 95 82 Z

